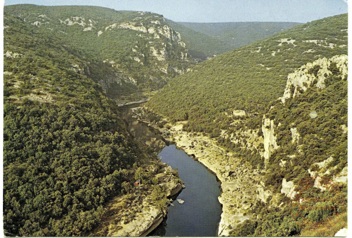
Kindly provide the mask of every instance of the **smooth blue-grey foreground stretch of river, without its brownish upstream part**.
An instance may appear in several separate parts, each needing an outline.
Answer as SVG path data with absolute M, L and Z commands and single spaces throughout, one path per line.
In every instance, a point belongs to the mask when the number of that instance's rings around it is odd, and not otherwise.
M 175 145 L 166 146 L 158 155 L 164 163 L 178 170 L 185 188 L 169 207 L 167 219 L 149 236 L 209 237 L 217 236 L 221 204 L 220 184 L 207 169 Z

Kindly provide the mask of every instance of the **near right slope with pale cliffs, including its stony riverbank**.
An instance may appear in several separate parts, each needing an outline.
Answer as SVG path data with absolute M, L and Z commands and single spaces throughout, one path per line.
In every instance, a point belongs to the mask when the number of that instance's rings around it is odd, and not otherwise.
M 247 128 L 245 111 L 234 112 L 232 127 L 221 130 L 227 148 L 184 130 L 187 121 L 154 123 L 166 123 L 169 139 L 221 181 L 219 236 L 334 236 L 346 229 L 347 67 L 347 56 L 336 55 L 290 73 L 258 127 Z

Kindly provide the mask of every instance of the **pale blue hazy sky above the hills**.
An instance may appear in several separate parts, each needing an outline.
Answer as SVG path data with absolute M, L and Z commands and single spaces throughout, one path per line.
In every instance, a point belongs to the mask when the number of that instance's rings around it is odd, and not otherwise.
M 189 22 L 307 22 L 348 10 L 347 0 L 5 0 L 5 5 L 18 3 L 152 11 L 174 21 Z

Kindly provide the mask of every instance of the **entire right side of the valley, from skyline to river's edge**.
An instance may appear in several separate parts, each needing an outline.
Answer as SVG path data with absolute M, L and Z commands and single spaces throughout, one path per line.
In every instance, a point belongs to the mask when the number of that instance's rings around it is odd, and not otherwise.
M 222 181 L 219 235 L 346 228 L 346 54 L 347 14 L 328 17 L 199 63 L 147 103 Z

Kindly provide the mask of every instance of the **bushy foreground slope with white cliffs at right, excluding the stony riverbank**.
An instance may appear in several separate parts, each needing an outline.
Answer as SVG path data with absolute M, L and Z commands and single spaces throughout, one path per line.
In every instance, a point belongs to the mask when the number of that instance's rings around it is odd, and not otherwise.
M 347 226 L 347 60 L 320 58 L 288 75 L 283 96 L 265 113 L 264 146 L 257 148 L 266 196 L 250 211 L 261 219 L 232 235 L 334 236 Z

